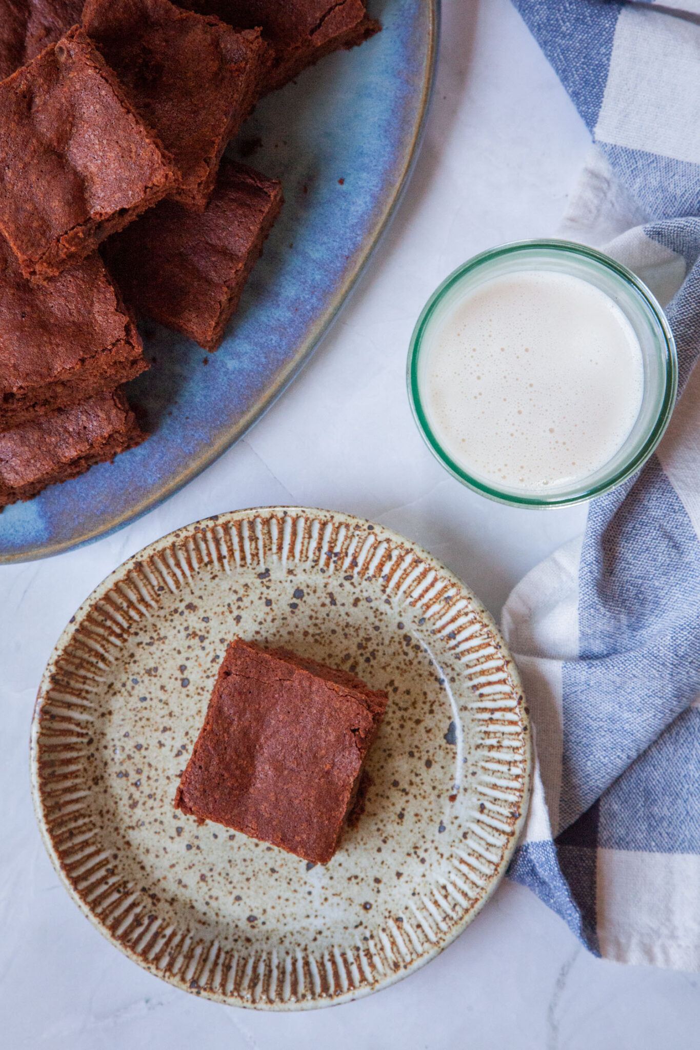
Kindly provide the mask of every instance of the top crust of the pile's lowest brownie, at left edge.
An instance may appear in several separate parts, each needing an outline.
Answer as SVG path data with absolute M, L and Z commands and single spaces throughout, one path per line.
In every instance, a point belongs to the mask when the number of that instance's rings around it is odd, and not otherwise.
M 128 438 L 133 428 L 133 414 L 120 392 L 24 423 L 0 434 L 0 482 L 10 488 L 30 485 L 99 450 L 119 432 Z

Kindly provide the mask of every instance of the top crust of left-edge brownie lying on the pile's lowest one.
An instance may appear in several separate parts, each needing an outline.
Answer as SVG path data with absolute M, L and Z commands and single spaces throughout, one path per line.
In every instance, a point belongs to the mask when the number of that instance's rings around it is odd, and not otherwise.
M 36 285 L 0 236 L 0 395 L 50 382 L 123 340 L 141 348 L 97 253 Z

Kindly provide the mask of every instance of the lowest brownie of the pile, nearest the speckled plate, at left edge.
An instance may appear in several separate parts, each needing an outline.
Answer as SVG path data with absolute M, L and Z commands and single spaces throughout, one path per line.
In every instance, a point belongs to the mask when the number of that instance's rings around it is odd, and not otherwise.
M 145 437 L 120 391 L 0 434 L 0 508 L 112 460 Z

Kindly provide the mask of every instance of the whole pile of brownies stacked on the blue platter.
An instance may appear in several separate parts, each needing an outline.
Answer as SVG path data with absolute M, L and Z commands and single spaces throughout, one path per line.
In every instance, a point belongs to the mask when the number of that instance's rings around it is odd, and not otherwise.
M 185 6 L 0 0 L 0 508 L 144 440 L 136 313 L 216 350 L 282 204 L 227 144 L 378 28 L 364 0 Z

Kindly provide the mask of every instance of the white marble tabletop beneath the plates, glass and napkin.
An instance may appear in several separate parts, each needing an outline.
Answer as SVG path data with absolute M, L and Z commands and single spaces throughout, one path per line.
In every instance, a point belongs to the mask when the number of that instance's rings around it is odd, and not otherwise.
M 390 525 L 496 614 L 514 583 L 582 527 L 581 508 L 510 510 L 448 478 L 415 430 L 408 337 L 434 286 L 472 253 L 557 227 L 588 135 L 508 0 L 445 0 L 434 104 L 412 182 L 352 301 L 304 373 L 206 474 L 83 550 L 0 568 L 2 1050 L 675 1050 L 700 1046 L 693 974 L 589 956 L 505 884 L 438 960 L 369 999 L 264 1014 L 178 992 L 127 961 L 59 885 L 31 812 L 39 678 L 89 591 L 144 544 L 216 511 L 341 508 Z

